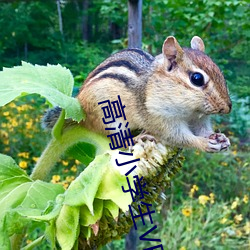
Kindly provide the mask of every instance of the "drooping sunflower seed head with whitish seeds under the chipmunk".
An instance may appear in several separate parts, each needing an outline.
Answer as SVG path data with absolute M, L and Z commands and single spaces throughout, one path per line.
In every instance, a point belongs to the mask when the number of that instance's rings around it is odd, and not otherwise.
M 128 159 L 138 159 L 136 162 L 137 168 L 130 173 L 130 175 L 143 176 L 143 181 L 146 182 L 146 186 L 143 190 L 149 194 L 144 196 L 143 201 L 149 204 L 157 203 L 158 205 L 162 200 L 166 199 L 164 190 L 170 186 L 171 178 L 180 170 L 183 157 L 180 156 L 180 150 L 177 148 L 165 147 L 160 143 L 154 141 L 138 142 L 130 151 L 133 156 L 126 156 L 119 154 L 119 151 L 111 151 L 111 165 L 120 171 L 121 174 L 125 174 L 130 170 L 135 163 L 123 165 L 118 167 L 115 160 L 118 159 L 119 163 L 127 162 Z M 140 199 L 137 199 L 131 204 L 134 215 L 138 214 L 138 205 Z M 143 211 L 142 206 L 142 212 Z M 125 233 L 128 233 L 133 226 L 133 221 L 129 212 L 119 212 L 118 220 L 113 217 L 103 215 L 99 223 L 98 235 L 95 236 L 92 233 L 91 237 L 86 240 L 79 237 L 80 249 L 97 249 L 100 246 L 107 244 L 108 242 L 120 239 Z

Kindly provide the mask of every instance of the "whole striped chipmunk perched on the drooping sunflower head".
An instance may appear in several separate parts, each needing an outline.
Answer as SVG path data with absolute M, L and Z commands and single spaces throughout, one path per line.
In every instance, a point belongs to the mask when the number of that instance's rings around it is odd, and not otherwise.
M 145 131 L 170 146 L 227 149 L 230 142 L 213 131 L 210 114 L 227 114 L 232 104 L 223 74 L 204 50 L 198 36 L 192 38 L 191 48 L 181 48 L 169 36 L 156 57 L 140 49 L 110 56 L 88 75 L 77 96 L 86 112 L 83 126 L 110 133 L 105 128 L 114 124 L 103 124 L 98 103 L 120 95 L 131 130 Z M 116 120 L 120 122 L 124 124 Z

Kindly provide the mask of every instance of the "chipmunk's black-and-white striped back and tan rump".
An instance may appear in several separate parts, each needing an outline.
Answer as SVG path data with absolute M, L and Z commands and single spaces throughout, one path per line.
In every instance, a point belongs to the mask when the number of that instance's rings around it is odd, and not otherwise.
M 87 77 L 79 92 L 80 101 L 87 119 L 84 126 L 98 132 L 107 133 L 102 124 L 102 110 L 99 102 L 115 101 L 117 96 L 126 105 L 128 121 L 137 120 L 145 112 L 145 85 L 152 74 L 155 58 L 140 49 L 126 49 L 117 52 L 98 65 Z M 137 112 L 133 112 L 133 109 Z M 134 124 L 134 126 L 133 126 Z M 130 128 L 138 127 L 133 122 Z

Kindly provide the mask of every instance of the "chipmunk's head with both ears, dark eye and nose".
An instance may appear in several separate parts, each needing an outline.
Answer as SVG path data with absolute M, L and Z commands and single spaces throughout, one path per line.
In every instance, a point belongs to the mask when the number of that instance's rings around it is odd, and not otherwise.
M 232 104 L 226 81 L 204 51 L 204 43 L 198 36 L 192 38 L 191 48 L 181 48 L 175 37 L 169 36 L 162 47 L 163 71 L 168 78 L 175 79 L 173 83 L 179 85 L 184 99 L 187 103 L 190 99 L 197 112 L 227 114 Z

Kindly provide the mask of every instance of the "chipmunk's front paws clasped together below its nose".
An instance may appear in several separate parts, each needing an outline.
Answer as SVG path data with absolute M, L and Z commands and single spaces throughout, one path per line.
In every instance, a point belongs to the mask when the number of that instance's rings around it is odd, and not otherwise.
M 230 147 L 229 139 L 221 133 L 214 133 L 208 138 L 208 152 L 216 153 L 225 151 Z

